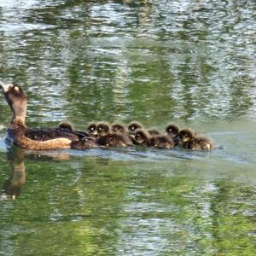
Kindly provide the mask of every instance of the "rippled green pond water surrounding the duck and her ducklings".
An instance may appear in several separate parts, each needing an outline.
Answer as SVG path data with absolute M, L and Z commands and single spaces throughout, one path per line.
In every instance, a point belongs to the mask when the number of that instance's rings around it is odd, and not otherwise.
M 0 255 L 255 255 L 255 9 L 0 1 L 0 79 L 26 90 L 27 125 L 174 121 L 220 146 L 7 148 L 1 96 Z

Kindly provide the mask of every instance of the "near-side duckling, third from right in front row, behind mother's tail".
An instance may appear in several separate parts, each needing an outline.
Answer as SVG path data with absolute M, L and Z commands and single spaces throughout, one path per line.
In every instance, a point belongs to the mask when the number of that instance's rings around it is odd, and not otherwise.
M 111 132 L 108 123 L 98 123 L 96 126 L 98 138 L 96 143 L 106 147 L 132 146 L 130 138 L 121 132 Z

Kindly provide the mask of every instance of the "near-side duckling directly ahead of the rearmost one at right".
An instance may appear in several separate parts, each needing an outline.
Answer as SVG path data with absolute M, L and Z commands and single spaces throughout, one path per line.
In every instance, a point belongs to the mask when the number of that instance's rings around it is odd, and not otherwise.
M 135 132 L 135 140 L 138 144 L 151 148 L 168 148 L 174 147 L 174 142 L 171 137 L 166 135 L 156 135 L 151 137 L 145 129 L 137 129 Z

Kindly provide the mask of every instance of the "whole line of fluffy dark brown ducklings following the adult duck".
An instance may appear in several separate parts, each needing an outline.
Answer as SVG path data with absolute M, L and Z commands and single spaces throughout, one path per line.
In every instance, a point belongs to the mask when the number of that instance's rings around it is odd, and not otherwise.
M 73 125 L 62 122 L 61 130 L 74 131 Z M 170 124 L 166 127 L 165 133 L 161 134 L 155 129 L 146 129 L 137 121 L 132 121 L 127 129 L 125 125 L 105 122 L 90 123 L 86 131 L 90 137 L 95 138 L 95 144 L 99 147 L 131 147 L 141 145 L 151 148 L 174 148 L 179 146 L 190 150 L 211 150 L 214 148 L 212 140 L 202 137 L 191 129 L 180 130 L 177 125 Z M 82 132 L 82 131 L 81 131 Z M 79 142 L 74 142 L 72 148 L 87 149 L 96 148 L 88 146 L 86 137 Z

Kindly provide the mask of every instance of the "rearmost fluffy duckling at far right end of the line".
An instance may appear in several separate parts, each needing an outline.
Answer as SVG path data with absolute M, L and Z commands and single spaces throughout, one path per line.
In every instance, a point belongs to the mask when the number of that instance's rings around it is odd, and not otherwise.
M 212 150 L 214 145 L 207 137 L 201 137 L 191 129 L 183 129 L 179 131 L 180 142 L 182 148 L 191 150 Z

